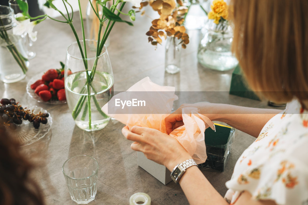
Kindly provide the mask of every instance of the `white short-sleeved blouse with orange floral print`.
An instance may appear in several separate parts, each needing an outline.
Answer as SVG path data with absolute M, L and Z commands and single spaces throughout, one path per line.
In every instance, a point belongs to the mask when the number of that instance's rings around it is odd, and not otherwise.
M 230 204 L 249 191 L 255 200 L 308 205 L 308 111 L 297 100 L 265 124 L 237 160 L 226 186 Z

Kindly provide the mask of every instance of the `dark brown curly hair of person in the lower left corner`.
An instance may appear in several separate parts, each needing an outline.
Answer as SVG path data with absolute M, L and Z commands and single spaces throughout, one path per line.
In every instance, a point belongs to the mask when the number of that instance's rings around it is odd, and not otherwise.
M 0 204 L 43 205 L 41 188 L 30 177 L 33 163 L 20 152 L 20 144 L 0 126 Z

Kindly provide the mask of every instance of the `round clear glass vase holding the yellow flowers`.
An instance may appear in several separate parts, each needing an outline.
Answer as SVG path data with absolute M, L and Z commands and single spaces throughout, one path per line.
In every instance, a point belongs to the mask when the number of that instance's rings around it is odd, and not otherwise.
M 233 32 L 227 21 L 219 24 L 210 21 L 204 29 L 198 48 L 198 62 L 213 70 L 231 70 L 238 64 L 231 53 Z

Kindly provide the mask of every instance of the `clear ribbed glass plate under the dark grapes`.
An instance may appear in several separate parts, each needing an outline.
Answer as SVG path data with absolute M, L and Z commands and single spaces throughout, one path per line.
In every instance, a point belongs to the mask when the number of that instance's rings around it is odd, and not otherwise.
M 38 114 L 39 112 L 47 112 L 47 110 L 37 106 L 26 107 L 26 109 L 31 111 L 33 110 L 34 114 Z M 6 134 L 11 138 L 17 139 L 22 146 L 34 143 L 35 141 L 43 138 L 51 128 L 52 118 L 50 113 L 48 114 L 49 117 L 47 118 L 47 123 L 45 125 L 41 123 L 39 129 L 35 129 L 33 127 L 33 122 L 30 123 L 28 120 L 22 120 L 22 124 L 16 125 L 16 130 L 11 130 L 10 128 L 6 129 Z

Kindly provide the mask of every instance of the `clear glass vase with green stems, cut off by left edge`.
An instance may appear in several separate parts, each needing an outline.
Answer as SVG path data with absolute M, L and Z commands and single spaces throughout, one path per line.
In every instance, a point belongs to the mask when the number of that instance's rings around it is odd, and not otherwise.
M 18 82 L 26 77 L 29 61 L 24 48 L 24 39 L 13 34 L 14 11 L 0 6 L 0 80 Z

